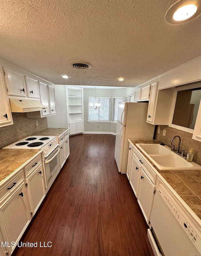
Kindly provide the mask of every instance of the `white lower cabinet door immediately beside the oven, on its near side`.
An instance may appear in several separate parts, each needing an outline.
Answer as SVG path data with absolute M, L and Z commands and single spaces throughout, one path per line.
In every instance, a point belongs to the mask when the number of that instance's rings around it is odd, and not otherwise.
M 43 167 L 40 165 L 26 179 L 29 194 L 30 206 L 33 215 L 40 206 L 45 197 L 45 181 L 43 176 Z M 32 215 L 32 216 L 33 216 Z

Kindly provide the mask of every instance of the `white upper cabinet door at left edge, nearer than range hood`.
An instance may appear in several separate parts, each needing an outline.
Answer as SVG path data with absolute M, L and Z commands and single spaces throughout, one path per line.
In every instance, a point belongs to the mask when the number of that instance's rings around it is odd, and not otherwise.
M 8 103 L 8 96 L 3 80 L 3 73 L 0 74 L 0 127 L 13 124 L 11 110 Z

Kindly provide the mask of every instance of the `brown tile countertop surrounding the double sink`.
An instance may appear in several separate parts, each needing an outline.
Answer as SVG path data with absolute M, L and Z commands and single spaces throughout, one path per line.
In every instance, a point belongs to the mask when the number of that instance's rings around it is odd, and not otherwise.
M 159 140 L 130 139 L 137 143 L 159 144 Z M 154 166 L 156 171 L 177 192 L 183 201 L 201 219 L 201 171 L 195 170 L 159 170 L 154 163 L 136 146 L 140 153 Z

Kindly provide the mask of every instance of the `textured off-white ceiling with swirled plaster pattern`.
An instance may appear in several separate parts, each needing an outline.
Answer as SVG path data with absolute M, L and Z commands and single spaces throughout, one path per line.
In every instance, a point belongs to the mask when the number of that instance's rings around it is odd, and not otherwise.
M 133 87 L 201 55 L 201 15 L 165 21 L 176 1 L 0 0 L 0 57 L 55 84 Z

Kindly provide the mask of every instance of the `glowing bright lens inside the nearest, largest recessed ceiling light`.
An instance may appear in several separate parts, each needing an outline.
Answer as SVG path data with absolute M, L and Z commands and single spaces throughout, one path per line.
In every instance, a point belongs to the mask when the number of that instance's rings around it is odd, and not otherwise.
M 184 5 L 174 13 L 173 19 L 177 21 L 188 19 L 196 13 L 197 9 L 194 4 Z

